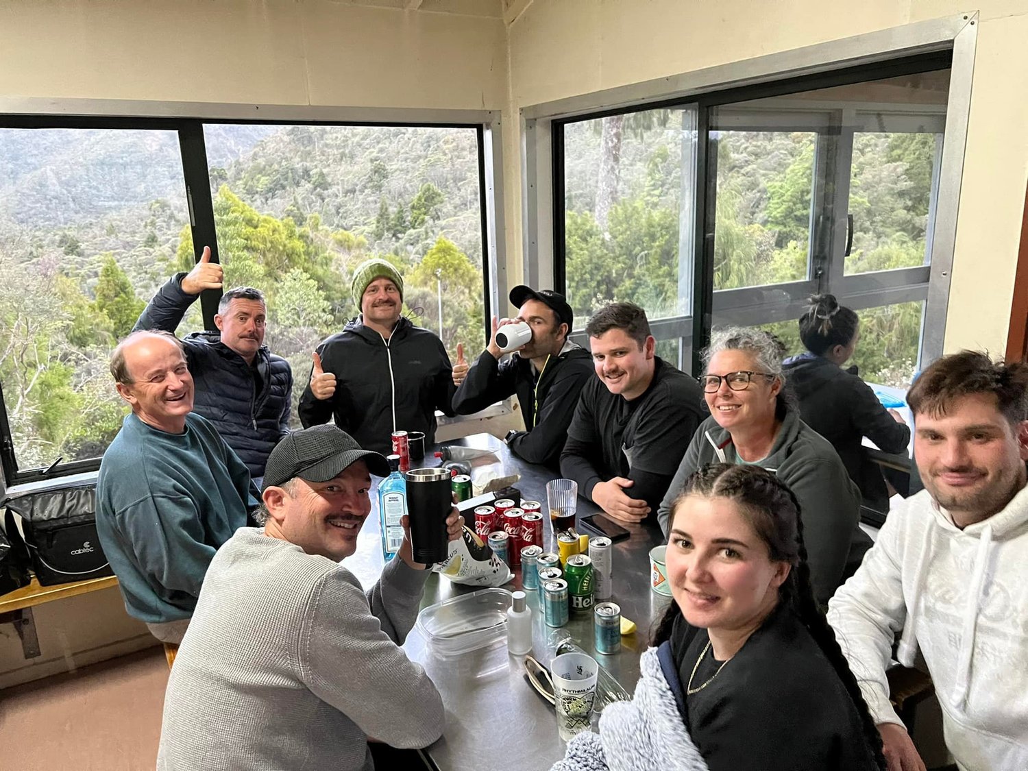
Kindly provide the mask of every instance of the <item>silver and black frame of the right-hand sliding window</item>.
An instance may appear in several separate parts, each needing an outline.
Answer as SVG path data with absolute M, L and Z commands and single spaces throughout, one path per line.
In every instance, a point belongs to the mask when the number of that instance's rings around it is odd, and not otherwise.
M 559 279 L 564 245 L 562 237 L 558 237 L 562 236 L 558 223 L 564 217 L 563 186 L 556 186 L 558 176 L 549 173 L 549 170 L 556 170 L 562 164 L 558 154 L 558 136 L 567 122 L 697 103 L 701 108 L 700 124 L 697 126 L 701 138 L 697 147 L 697 180 L 704 181 L 707 179 L 706 168 L 710 162 L 707 157 L 708 143 L 703 141 L 708 136 L 706 122 L 709 111 L 704 108 L 948 68 L 950 87 L 945 113 L 945 142 L 938 174 L 933 179 L 939 195 L 931 213 L 934 228 L 929 228 L 927 245 L 931 255 L 930 266 L 841 277 L 837 294 L 853 307 L 869 306 L 871 296 L 878 298 L 874 305 L 892 304 L 907 299 L 924 300 L 926 305 L 922 317 L 920 359 L 922 363 L 926 363 L 938 358 L 942 355 L 946 327 L 977 21 L 977 13 L 956 14 L 524 108 L 522 119 L 526 145 L 523 182 L 526 216 L 523 241 L 526 277 L 530 276 L 538 281 L 540 277 L 552 272 L 555 286 L 563 286 Z M 843 171 L 849 174 L 849 169 Z M 712 232 L 712 227 L 705 220 L 706 197 L 710 194 L 705 187 L 698 184 L 696 191 L 696 231 L 700 233 Z M 546 205 L 548 207 L 544 208 Z M 538 211 L 535 217 L 530 216 L 534 209 Z M 845 243 L 845 231 L 839 232 L 840 228 L 831 227 L 831 223 L 829 225 L 827 233 L 819 234 L 816 230 L 811 233 L 811 246 L 819 237 L 830 238 L 828 244 L 833 244 L 831 240 L 843 240 L 842 243 Z M 830 252 L 833 253 L 835 250 Z M 711 329 L 712 244 L 695 244 L 694 260 L 693 298 L 697 304 L 692 316 L 692 335 L 683 339 L 684 344 L 692 344 L 693 340 L 705 342 L 709 339 Z M 823 269 L 830 266 L 821 267 Z M 842 265 L 839 266 L 839 272 L 842 272 Z M 808 282 L 798 284 L 807 285 Z M 917 291 L 911 288 L 915 285 Z M 793 291 L 800 289 L 795 285 L 769 286 L 775 289 L 786 287 Z M 833 286 L 834 290 L 836 288 Z M 746 289 L 749 288 L 726 291 L 744 292 Z M 918 296 L 911 296 L 912 294 Z M 783 308 L 782 314 L 787 318 L 797 318 L 802 305 L 801 298 L 794 297 L 794 302 Z M 793 316 L 794 313 L 796 316 Z M 683 319 L 659 321 L 674 322 Z M 702 345 L 692 345 L 694 371 L 699 371 L 701 347 Z

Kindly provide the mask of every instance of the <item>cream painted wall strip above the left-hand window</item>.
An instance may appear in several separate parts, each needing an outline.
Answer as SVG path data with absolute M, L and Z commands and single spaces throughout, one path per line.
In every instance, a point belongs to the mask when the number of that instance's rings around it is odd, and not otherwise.
M 424 5 L 0 0 L 0 97 L 500 109 L 499 0 Z

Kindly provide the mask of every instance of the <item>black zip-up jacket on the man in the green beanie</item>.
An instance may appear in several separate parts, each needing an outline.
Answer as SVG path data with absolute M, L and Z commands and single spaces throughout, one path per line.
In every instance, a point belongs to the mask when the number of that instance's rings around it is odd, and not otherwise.
M 310 380 L 298 411 L 304 428 L 328 423 L 365 449 L 392 452 L 394 431 L 424 431 L 436 441 L 436 410 L 453 415 L 453 368 L 433 332 L 401 318 L 387 340 L 363 317 L 318 346 L 322 368 L 335 375 L 331 399 L 316 399 Z

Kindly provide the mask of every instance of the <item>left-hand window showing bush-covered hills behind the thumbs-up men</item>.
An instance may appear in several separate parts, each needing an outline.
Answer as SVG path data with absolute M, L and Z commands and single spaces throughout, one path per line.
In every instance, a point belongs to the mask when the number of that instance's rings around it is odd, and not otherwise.
M 359 313 L 350 282 L 368 257 L 400 268 L 404 313 L 451 358 L 484 342 L 480 127 L 63 122 L 0 127 L 8 484 L 97 467 L 126 412 L 110 352 L 207 244 L 226 287 L 265 292 L 294 406 L 310 352 Z M 212 299 L 180 334 L 213 328 Z

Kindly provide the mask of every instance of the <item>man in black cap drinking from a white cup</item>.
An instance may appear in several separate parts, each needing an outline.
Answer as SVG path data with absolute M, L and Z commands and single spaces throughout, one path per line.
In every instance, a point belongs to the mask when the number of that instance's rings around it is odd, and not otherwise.
M 510 299 L 519 308 L 517 318 L 499 324 L 492 319 L 492 339 L 471 367 L 464 346 L 457 346 L 453 409 L 469 415 L 517 394 L 525 430 L 511 431 L 508 446 L 528 463 L 556 469 L 579 393 L 592 374 L 589 352 L 567 339 L 575 317 L 562 294 L 518 286 Z M 517 322 L 528 325 L 531 339 L 501 362 L 497 331 Z

